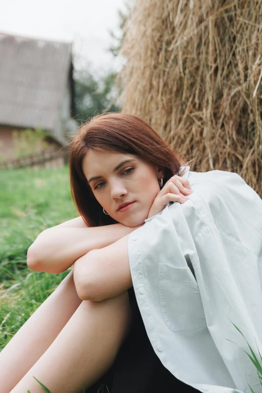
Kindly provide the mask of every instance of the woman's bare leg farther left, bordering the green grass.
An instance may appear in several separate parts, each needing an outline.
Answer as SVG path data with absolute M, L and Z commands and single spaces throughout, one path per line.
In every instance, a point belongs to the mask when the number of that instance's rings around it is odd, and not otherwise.
M 71 271 L 0 352 L 1 392 L 9 393 L 23 378 L 81 303 Z

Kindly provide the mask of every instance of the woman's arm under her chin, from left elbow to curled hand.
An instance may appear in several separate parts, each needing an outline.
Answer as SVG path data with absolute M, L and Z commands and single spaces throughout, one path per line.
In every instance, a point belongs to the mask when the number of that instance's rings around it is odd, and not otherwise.
M 161 211 L 168 201 L 184 203 L 184 185 L 188 187 L 188 180 L 172 176 L 157 194 L 149 217 Z M 40 233 L 28 249 L 28 266 L 37 272 L 62 273 L 90 250 L 106 247 L 144 224 L 132 228 L 119 223 L 88 228 L 82 217 L 74 218 Z

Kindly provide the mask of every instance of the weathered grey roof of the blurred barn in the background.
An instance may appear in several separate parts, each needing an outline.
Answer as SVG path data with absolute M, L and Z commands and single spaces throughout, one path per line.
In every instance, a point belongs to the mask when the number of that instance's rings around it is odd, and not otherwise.
M 70 43 L 0 33 L 0 124 L 54 130 L 71 58 Z

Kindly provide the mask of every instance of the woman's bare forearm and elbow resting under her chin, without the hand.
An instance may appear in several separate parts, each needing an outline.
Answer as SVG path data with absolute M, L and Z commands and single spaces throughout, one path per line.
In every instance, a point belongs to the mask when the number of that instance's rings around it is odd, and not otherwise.
M 112 224 L 87 228 L 53 227 L 44 230 L 29 247 L 27 263 L 37 272 L 62 273 L 92 249 L 102 248 L 139 228 Z

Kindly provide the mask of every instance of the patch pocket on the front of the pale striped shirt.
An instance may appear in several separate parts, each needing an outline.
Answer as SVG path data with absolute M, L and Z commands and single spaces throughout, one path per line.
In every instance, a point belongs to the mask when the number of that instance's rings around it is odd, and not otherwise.
M 207 326 L 198 284 L 190 268 L 159 264 L 159 300 L 170 330 Z

